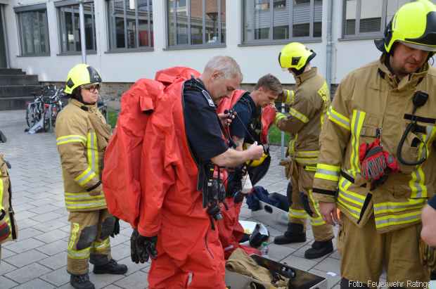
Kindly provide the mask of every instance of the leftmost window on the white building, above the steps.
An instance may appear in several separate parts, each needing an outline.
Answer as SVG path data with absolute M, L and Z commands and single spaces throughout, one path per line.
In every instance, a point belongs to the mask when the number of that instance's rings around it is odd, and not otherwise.
M 21 56 L 49 56 L 49 28 L 45 4 L 15 8 Z

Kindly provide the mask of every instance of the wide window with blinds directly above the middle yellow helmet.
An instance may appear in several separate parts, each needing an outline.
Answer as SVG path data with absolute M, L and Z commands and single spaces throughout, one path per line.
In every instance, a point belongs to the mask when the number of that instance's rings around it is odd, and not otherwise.
M 322 0 L 243 0 L 243 44 L 320 38 L 322 11 Z

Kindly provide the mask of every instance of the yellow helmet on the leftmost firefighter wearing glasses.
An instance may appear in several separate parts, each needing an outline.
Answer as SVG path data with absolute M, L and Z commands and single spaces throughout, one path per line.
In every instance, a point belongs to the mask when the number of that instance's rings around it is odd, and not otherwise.
M 101 76 L 98 71 L 90 65 L 80 63 L 68 72 L 65 84 L 65 94 L 72 94 L 77 87 L 84 84 L 100 83 Z

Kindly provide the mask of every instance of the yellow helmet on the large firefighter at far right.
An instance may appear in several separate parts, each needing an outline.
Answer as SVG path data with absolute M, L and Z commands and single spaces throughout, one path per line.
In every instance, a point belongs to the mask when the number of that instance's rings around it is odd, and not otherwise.
M 385 38 L 375 41 L 377 49 L 390 53 L 396 41 L 423 51 L 436 51 L 436 6 L 418 0 L 401 6 L 385 29 Z

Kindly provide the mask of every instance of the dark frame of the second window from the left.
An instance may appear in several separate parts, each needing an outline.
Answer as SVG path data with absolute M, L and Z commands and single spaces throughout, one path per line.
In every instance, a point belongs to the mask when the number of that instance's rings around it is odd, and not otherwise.
M 75 30 L 75 6 L 79 5 L 79 0 L 62 0 L 62 1 L 56 1 L 55 3 L 56 8 L 56 17 L 58 22 L 58 39 L 59 39 L 59 53 L 58 56 L 71 56 L 71 55 L 80 55 L 82 54 L 82 51 L 77 51 L 77 39 L 74 40 L 74 47 L 75 51 L 68 51 L 67 49 L 64 50 L 64 46 L 66 46 L 66 43 L 64 44 L 62 41 L 62 32 L 66 30 L 65 27 L 65 18 L 62 13 L 62 8 L 70 7 L 72 8 L 72 27 L 73 31 Z M 93 4 L 91 7 L 91 19 L 92 19 L 92 47 L 93 49 L 86 49 L 86 54 L 96 54 L 97 53 L 97 33 L 96 33 L 96 4 L 94 3 L 94 0 L 83 0 L 83 4 Z M 79 9 L 79 7 L 77 7 Z M 80 21 L 80 20 L 79 20 Z M 79 23 L 80 25 L 80 23 Z M 86 32 L 85 32 L 86 33 Z

